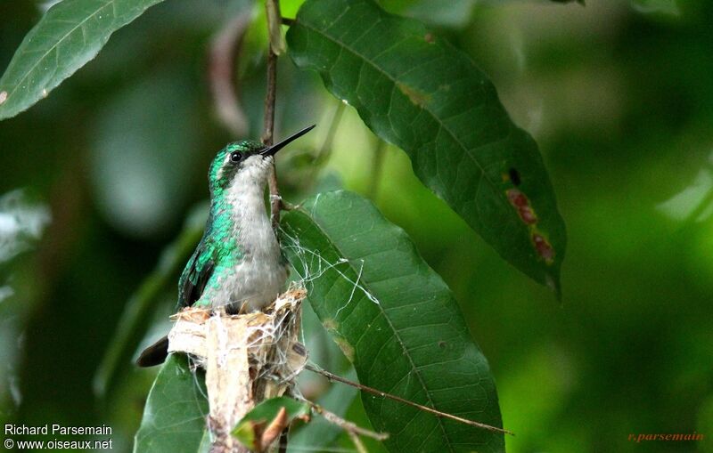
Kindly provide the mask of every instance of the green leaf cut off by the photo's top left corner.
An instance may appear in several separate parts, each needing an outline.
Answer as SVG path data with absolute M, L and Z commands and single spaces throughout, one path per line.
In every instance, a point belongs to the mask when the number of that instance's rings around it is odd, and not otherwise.
M 0 78 L 0 119 L 43 99 L 92 60 L 109 36 L 162 0 L 63 0 L 32 28 Z

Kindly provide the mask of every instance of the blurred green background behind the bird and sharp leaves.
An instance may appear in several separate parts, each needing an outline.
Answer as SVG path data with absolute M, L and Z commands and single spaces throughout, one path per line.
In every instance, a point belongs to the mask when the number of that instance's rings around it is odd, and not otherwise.
M 381 4 L 469 53 L 537 139 L 568 225 L 562 302 L 504 263 L 351 108 L 314 172 L 339 102 L 286 56 L 276 135 L 318 128 L 278 159 L 285 197 L 342 184 L 414 238 L 488 357 L 504 426 L 517 433 L 509 451 L 713 451 L 708 439 L 627 441 L 713 436 L 713 3 Z M 283 1 L 283 15 L 298 5 Z M 0 69 L 44 7 L 0 2 Z M 159 4 L 45 101 L 0 123 L 5 422 L 111 425 L 114 450 L 131 449 L 155 370 L 127 365 L 106 397 L 94 394 L 94 374 L 127 299 L 207 198 L 210 158 L 234 139 L 214 114 L 208 49 L 242 12 L 255 20 L 239 90 L 258 137 L 266 36 L 247 0 Z M 156 301 L 157 319 L 174 287 Z M 350 413 L 366 423 L 358 402 Z

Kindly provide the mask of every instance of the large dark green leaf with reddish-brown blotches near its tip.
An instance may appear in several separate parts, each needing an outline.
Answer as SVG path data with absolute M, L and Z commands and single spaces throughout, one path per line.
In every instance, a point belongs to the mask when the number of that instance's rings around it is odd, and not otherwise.
M 559 291 L 566 234 L 537 144 L 467 55 L 373 0 L 307 0 L 287 39 L 505 260 Z

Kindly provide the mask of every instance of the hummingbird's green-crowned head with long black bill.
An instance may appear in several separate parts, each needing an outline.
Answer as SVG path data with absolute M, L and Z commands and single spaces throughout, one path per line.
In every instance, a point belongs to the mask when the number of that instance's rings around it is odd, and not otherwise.
M 282 150 L 288 143 L 298 139 L 312 130 L 315 125 L 310 125 L 292 134 L 282 142 L 266 146 L 253 140 L 228 143 L 225 148 L 217 152 L 216 158 L 210 164 L 208 174 L 210 192 L 225 190 L 228 186 L 238 183 L 259 184 L 264 187 L 267 171 L 273 162 L 275 153 Z

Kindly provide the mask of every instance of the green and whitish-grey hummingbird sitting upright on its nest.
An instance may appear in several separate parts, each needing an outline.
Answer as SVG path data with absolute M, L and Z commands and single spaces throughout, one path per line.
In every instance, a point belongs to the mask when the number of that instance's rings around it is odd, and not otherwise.
M 178 310 L 229 313 L 258 311 L 275 300 L 287 280 L 287 263 L 266 213 L 265 186 L 275 153 L 314 128 L 310 125 L 272 146 L 229 143 L 210 164 L 210 211 L 206 228 L 178 279 Z M 160 365 L 168 336 L 139 356 L 139 367 Z

